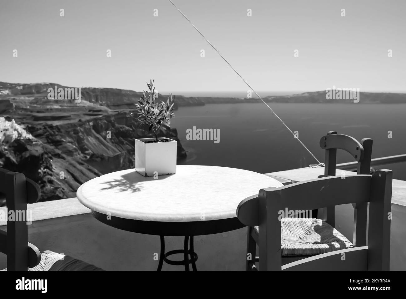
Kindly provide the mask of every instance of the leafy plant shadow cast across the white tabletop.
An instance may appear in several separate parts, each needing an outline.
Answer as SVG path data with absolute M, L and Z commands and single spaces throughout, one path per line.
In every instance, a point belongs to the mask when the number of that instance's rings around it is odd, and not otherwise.
M 134 170 L 132 172 L 126 173 L 125 175 L 121 175 L 121 179 L 112 179 L 110 181 L 104 182 L 106 186 L 101 190 L 117 189 L 120 192 L 140 192 L 144 189 L 144 182 L 160 181 L 171 176 L 173 175 L 160 175 L 158 179 L 154 179 L 154 177 L 144 177 Z

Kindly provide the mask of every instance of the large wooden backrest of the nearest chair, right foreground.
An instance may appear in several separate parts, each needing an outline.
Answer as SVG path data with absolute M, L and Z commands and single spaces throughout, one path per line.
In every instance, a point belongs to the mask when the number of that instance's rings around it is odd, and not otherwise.
M 237 217 L 244 225 L 259 225 L 259 270 L 346 270 L 389 271 L 391 235 L 392 171 L 373 175 L 323 177 L 280 188 L 259 191 L 256 198 L 244 199 Z M 313 210 L 325 205 L 369 202 L 368 246 L 332 251 L 281 266 L 281 223 L 279 212 Z M 345 257 L 344 259 L 342 257 Z

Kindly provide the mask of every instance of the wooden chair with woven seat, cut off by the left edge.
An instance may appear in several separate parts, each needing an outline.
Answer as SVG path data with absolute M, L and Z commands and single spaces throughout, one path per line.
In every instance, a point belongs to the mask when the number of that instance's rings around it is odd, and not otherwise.
M 22 173 L 0 168 L 0 199 L 6 199 L 7 232 L 0 229 L 0 252 L 7 255 L 7 271 L 102 271 L 68 255 L 44 251 L 28 243 L 27 203 L 41 197 L 39 186 Z

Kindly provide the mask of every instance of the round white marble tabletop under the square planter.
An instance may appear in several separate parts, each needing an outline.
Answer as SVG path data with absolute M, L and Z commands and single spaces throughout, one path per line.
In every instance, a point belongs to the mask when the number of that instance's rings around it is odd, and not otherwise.
M 158 179 L 134 169 L 102 175 L 80 186 L 77 197 L 89 209 L 111 216 L 184 222 L 237 217 L 243 199 L 261 188 L 281 186 L 276 179 L 248 170 L 178 165 L 175 174 Z

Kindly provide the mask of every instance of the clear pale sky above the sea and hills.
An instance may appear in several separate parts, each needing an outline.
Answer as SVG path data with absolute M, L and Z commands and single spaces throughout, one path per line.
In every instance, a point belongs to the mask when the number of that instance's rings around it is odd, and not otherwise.
M 172 1 L 255 90 L 406 91 L 405 0 Z M 248 90 L 169 0 L 0 0 L 0 28 L 0 81 Z

